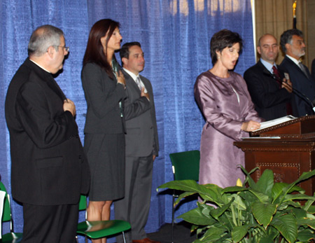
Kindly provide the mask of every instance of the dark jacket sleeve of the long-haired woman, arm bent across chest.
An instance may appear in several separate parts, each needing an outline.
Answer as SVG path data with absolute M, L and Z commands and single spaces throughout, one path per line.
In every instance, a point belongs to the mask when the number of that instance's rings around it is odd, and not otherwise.
M 116 109 L 118 102 L 125 98 L 123 85 L 118 83 L 114 90 L 109 90 L 106 84 L 115 81 L 104 74 L 97 64 L 86 64 L 83 67 L 81 78 L 85 98 L 90 101 L 90 108 L 99 118 L 103 118 L 109 111 Z

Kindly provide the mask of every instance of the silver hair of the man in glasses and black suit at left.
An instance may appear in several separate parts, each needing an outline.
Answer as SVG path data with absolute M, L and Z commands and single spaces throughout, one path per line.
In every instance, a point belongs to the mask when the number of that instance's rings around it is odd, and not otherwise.
M 31 38 L 29 39 L 29 57 L 32 55 L 36 57 L 43 55 L 50 46 L 53 46 L 55 50 L 58 51 L 61 36 L 64 36 L 64 32 L 52 25 L 38 27 L 31 34 Z

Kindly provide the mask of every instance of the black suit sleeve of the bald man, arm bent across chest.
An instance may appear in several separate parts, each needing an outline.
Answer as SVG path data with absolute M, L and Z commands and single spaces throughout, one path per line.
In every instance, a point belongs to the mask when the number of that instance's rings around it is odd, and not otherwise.
M 285 88 L 276 88 L 274 91 L 269 91 L 267 82 L 274 82 L 274 85 L 278 85 L 276 81 L 270 81 L 272 78 L 265 77 L 264 74 L 254 69 L 248 69 L 244 73 L 244 79 L 253 103 L 260 108 L 269 108 L 290 101 L 291 95 Z

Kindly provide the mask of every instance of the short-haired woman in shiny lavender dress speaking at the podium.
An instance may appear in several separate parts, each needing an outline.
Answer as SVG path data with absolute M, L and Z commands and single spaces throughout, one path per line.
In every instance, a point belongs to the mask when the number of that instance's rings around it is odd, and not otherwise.
M 239 165 L 244 153 L 233 145 L 248 132 L 260 127 L 244 79 L 230 71 L 235 68 L 242 40 L 239 34 L 223 29 L 212 36 L 211 59 L 214 67 L 197 77 L 195 98 L 206 124 L 200 142 L 200 183 L 222 188 L 244 180 Z

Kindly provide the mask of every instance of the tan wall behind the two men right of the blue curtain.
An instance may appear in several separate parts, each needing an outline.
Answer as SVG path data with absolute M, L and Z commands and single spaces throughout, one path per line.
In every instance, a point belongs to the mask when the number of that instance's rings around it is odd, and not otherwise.
M 286 29 L 293 28 L 294 0 L 255 0 L 256 40 L 262 34 L 273 34 L 280 43 L 281 34 Z M 307 53 L 303 63 L 309 68 L 315 58 L 315 1 L 297 0 L 296 18 L 297 29 L 304 33 L 307 43 Z M 283 60 L 283 53 L 279 53 L 278 64 Z

